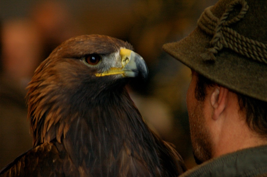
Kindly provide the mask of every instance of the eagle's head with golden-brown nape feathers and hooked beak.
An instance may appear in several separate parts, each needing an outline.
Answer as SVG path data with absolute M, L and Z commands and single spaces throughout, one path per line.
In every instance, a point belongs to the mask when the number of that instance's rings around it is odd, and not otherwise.
M 132 50 L 128 42 L 105 35 L 74 37 L 54 49 L 27 87 L 34 145 L 61 142 L 72 122 L 92 105 L 106 103 L 127 78 L 146 79 L 147 66 Z

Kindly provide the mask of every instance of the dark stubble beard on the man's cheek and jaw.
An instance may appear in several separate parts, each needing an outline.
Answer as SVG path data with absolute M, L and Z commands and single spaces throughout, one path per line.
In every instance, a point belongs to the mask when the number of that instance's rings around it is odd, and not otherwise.
M 193 156 L 197 164 L 201 164 L 212 157 L 211 134 L 206 127 L 203 102 L 189 113 L 190 135 L 193 147 Z

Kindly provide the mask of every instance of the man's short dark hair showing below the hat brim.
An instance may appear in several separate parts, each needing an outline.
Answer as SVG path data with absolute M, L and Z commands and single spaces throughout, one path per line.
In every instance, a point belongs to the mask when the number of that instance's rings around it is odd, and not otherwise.
M 198 101 L 204 101 L 207 95 L 207 88 L 215 85 L 206 77 L 197 74 L 197 83 L 195 88 L 195 98 Z M 240 110 L 246 112 L 246 122 L 248 127 L 261 136 L 267 136 L 267 102 L 260 101 L 249 96 L 237 94 Z

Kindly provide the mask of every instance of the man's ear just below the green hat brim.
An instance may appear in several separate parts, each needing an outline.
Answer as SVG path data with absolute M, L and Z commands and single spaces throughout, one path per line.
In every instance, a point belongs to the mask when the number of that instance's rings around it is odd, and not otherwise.
M 210 104 L 213 108 L 212 118 L 214 120 L 217 120 L 225 109 L 228 92 L 229 90 L 222 86 L 214 87 L 210 96 Z

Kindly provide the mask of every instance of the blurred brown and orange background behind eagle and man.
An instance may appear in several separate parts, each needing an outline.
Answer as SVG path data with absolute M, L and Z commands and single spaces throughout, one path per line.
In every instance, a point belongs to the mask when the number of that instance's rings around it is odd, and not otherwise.
M 27 83 L 41 61 L 64 40 L 105 34 L 130 42 L 146 61 L 147 83 L 129 92 L 149 126 L 173 143 L 188 169 L 195 166 L 186 91 L 190 70 L 162 45 L 182 39 L 216 0 L 1 0 L 0 169 L 32 147 Z

